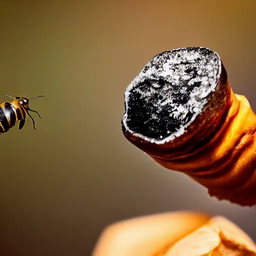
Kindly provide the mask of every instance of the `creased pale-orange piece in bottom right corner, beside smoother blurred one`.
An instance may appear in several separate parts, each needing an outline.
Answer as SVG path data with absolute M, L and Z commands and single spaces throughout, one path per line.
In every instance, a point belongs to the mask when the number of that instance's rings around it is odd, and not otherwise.
M 169 249 L 154 256 L 242 256 L 256 255 L 256 245 L 239 227 L 216 216 Z

